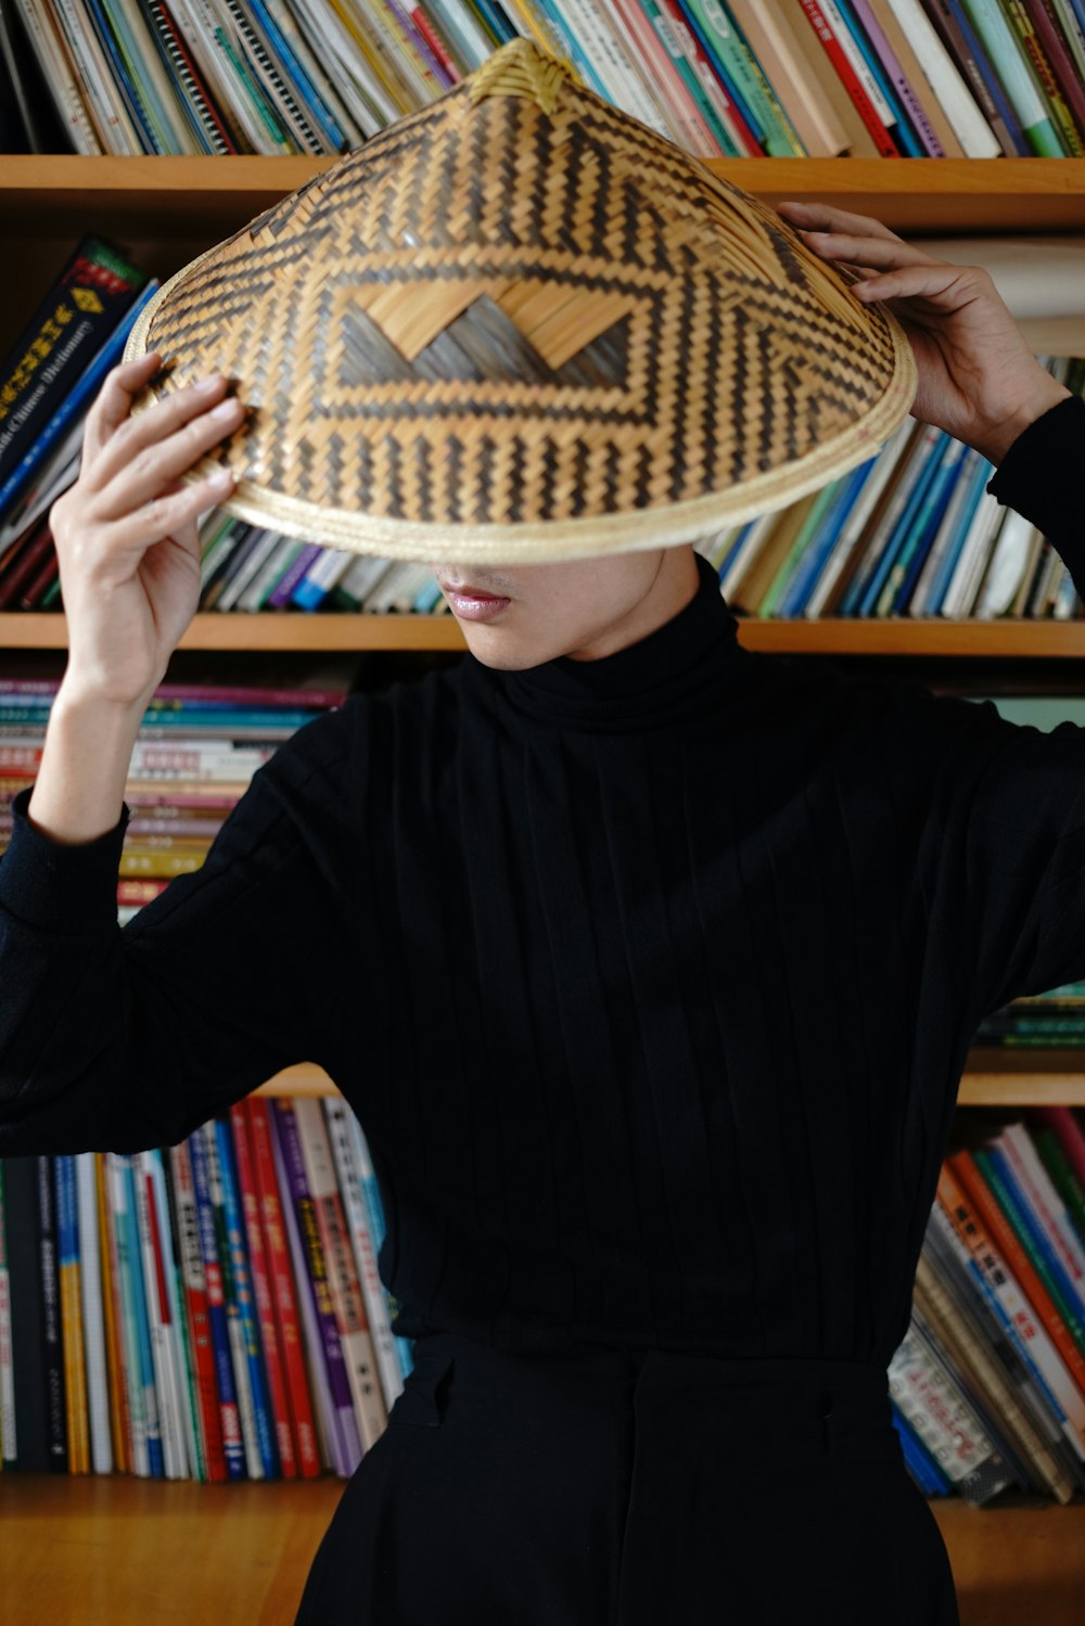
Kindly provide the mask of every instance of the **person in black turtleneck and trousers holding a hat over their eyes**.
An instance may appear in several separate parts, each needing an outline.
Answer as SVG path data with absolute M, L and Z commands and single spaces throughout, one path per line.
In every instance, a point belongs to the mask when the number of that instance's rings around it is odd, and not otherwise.
M 1085 410 L 989 278 L 781 213 L 1077 571 Z M 52 515 L 0 1151 L 176 1141 L 301 1059 L 358 1112 L 418 1341 L 304 1626 L 948 1626 L 885 1367 L 979 1020 L 1085 976 L 1082 732 L 750 654 L 691 548 L 442 564 L 468 655 L 303 728 L 120 932 L 130 751 L 223 496 L 179 476 L 242 413 L 220 379 L 129 418 L 155 364 Z

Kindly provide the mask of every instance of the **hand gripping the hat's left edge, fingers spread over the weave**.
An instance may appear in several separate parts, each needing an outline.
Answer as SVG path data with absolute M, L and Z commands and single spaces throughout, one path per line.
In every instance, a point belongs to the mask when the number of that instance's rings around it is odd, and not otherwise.
M 200 598 L 197 515 L 223 502 L 229 470 L 185 485 L 244 421 L 226 379 L 177 390 L 132 416 L 158 351 L 114 367 L 86 418 L 80 476 L 50 509 L 68 623 L 63 689 L 143 709 Z

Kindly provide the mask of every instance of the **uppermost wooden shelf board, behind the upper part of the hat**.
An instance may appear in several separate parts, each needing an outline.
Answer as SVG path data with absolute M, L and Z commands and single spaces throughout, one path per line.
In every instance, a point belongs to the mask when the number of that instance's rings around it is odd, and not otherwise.
M 8 233 L 99 231 L 132 221 L 140 231 L 210 241 L 330 169 L 335 158 L 81 158 L 3 159 L 2 215 Z M 875 215 L 895 229 L 1061 231 L 1085 228 L 1085 159 L 997 158 L 739 158 L 711 159 L 716 174 L 769 203 L 808 198 Z

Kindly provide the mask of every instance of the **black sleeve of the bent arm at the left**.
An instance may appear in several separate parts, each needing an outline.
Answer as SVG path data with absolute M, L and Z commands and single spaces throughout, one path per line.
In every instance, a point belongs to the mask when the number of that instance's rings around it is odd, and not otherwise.
M 0 860 L 0 1153 L 176 1143 L 272 1073 L 320 1060 L 361 912 L 355 701 L 254 776 L 198 872 L 124 928 L 129 821 L 67 847 L 11 800 Z

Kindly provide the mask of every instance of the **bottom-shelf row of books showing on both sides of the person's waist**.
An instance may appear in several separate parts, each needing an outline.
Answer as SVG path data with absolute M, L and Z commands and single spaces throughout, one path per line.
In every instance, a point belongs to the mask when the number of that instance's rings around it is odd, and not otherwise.
M 3 1465 L 350 1475 L 412 1369 L 382 1236 L 338 1096 L 249 1096 L 164 1151 L 0 1161 Z M 1085 1135 L 1069 1109 L 945 1161 L 888 1392 L 930 1496 L 1085 1488 Z

